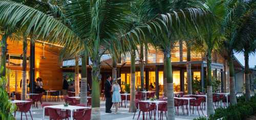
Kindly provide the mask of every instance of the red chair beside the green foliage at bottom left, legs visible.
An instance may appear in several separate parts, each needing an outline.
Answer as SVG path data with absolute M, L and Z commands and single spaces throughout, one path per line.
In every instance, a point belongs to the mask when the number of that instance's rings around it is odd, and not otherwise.
M 30 108 L 31 108 L 31 105 L 32 105 L 32 101 L 31 102 L 27 102 L 27 103 L 17 103 L 16 106 L 17 106 L 17 111 L 18 112 L 21 112 L 21 115 L 20 115 L 20 118 L 22 119 L 22 113 L 24 112 L 25 115 L 26 115 L 26 119 L 28 119 L 27 117 L 27 112 L 30 113 L 30 116 L 31 116 L 31 119 L 33 120 L 33 117 L 32 117 L 32 114 L 31 114 L 31 111 L 30 111 Z M 14 117 L 16 115 L 16 111 L 14 112 Z

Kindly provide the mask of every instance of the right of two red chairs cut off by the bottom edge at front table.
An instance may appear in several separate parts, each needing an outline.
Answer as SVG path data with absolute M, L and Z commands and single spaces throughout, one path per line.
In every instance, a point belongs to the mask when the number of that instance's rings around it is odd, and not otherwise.
M 92 109 L 84 109 L 82 111 L 74 112 L 74 119 L 76 120 L 90 120 Z

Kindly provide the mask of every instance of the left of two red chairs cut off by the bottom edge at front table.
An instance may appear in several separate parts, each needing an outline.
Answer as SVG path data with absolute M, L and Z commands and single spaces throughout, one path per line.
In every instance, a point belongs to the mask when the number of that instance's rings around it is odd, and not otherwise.
M 60 109 L 48 108 L 48 112 L 49 112 L 50 120 L 69 118 L 67 111 L 61 111 Z

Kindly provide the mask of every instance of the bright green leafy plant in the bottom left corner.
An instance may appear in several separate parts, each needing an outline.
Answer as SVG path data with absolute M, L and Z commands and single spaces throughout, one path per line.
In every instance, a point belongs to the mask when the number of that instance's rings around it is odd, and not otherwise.
M 0 119 L 15 119 L 12 113 L 16 110 L 16 106 L 9 101 L 8 93 L 4 88 L 6 78 L 0 78 Z

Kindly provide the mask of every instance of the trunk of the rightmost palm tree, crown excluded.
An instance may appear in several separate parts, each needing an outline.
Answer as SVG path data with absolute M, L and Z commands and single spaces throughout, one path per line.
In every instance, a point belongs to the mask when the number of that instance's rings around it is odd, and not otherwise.
M 249 74 L 249 53 L 247 50 L 244 52 L 244 74 L 245 74 L 245 100 L 250 100 L 250 74 Z

